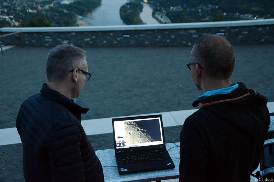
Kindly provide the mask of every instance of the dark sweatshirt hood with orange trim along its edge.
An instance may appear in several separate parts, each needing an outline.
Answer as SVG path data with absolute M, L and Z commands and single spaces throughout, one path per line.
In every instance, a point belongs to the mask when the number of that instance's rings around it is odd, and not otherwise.
M 192 106 L 201 105 L 200 109 L 213 112 L 214 115 L 247 132 L 256 132 L 258 128 L 268 126 L 270 116 L 266 106 L 267 98 L 253 89 L 247 89 L 244 83 L 238 82 L 238 85 L 239 87 L 229 94 L 212 95 L 202 100 L 195 100 Z

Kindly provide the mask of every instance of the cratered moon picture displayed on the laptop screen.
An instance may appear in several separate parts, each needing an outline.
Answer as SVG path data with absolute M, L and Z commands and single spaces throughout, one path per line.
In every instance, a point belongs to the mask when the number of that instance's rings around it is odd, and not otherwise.
M 128 144 L 138 144 L 161 140 L 160 133 L 155 133 L 157 121 L 154 122 L 153 120 L 150 120 L 149 124 L 147 123 L 140 121 L 125 122 L 125 134 Z

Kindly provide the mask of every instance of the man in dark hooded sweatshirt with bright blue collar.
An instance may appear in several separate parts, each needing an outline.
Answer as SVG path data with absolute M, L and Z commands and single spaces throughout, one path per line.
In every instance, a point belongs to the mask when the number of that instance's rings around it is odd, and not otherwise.
M 241 82 L 231 84 L 234 51 L 220 35 L 200 38 L 187 67 L 204 94 L 181 130 L 180 181 L 249 182 L 270 123 L 267 98 Z

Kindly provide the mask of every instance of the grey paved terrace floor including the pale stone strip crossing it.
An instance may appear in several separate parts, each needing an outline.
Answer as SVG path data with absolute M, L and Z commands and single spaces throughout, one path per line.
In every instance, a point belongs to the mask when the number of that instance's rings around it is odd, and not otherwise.
M 0 181 L 24 181 L 22 144 L 16 132 L 21 103 L 47 82 L 51 48 L 13 47 L 0 55 Z M 162 113 L 167 143 L 179 142 L 184 119 L 198 108 L 189 69 L 191 47 L 83 48 L 89 72 L 77 104 L 90 108 L 83 127 L 95 150 L 113 148 L 111 118 Z M 269 99 L 274 110 L 274 44 L 234 46 L 232 82 L 244 82 Z M 254 180 L 254 179 L 253 179 Z

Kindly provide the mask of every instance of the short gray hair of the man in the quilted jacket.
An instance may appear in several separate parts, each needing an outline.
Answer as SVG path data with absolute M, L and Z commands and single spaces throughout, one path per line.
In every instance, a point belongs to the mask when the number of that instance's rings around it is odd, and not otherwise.
M 69 71 L 75 68 L 82 69 L 85 65 L 86 51 L 74 45 L 57 45 L 47 56 L 47 80 L 61 82 Z

